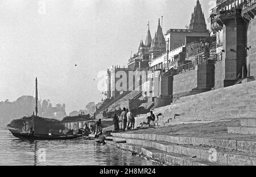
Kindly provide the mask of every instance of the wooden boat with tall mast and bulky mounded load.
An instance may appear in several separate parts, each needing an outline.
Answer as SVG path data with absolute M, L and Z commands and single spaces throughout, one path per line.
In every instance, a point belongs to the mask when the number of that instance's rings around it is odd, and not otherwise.
M 21 128 L 11 128 L 9 127 L 9 131 L 13 134 L 13 136 L 20 138 L 22 140 L 72 140 L 75 138 L 82 137 L 82 134 L 61 134 L 59 132 L 56 133 L 57 130 L 63 130 L 63 125 L 60 121 L 53 119 L 46 119 L 38 116 L 38 79 L 36 78 L 36 98 L 35 98 L 35 113 L 32 117 L 26 117 L 26 119 L 30 119 L 27 124 L 25 121 L 24 129 Z M 24 121 L 24 119 L 20 120 Z M 55 127 L 55 132 L 51 132 L 51 127 Z

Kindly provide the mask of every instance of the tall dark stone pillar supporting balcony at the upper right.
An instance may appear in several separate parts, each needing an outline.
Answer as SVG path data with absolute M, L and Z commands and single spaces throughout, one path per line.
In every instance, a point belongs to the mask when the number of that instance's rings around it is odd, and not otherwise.
M 223 49 L 225 60 L 224 87 L 232 86 L 242 74 L 242 66 L 246 65 L 246 23 L 241 10 L 232 14 L 220 15 L 223 27 Z

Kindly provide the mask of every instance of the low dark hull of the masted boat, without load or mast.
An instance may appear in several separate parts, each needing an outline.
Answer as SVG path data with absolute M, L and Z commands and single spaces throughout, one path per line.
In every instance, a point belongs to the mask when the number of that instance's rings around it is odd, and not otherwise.
M 11 132 L 13 136 L 20 138 L 21 140 L 73 140 L 82 137 L 82 134 L 73 135 L 32 135 L 28 133 L 15 133 Z

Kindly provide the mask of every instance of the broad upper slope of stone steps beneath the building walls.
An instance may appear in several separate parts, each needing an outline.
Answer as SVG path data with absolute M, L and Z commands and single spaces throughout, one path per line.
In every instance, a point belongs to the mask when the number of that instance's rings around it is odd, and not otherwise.
M 185 96 L 169 106 L 154 109 L 155 115 L 159 113 L 162 116 L 155 121 L 158 126 L 255 118 L 256 81 Z M 140 127 L 147 116 L 136 117 L 135 127 Z

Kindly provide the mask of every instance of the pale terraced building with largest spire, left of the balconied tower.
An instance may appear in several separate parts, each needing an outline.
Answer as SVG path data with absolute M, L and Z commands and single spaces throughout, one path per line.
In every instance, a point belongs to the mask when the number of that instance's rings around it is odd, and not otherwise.
M 160 24 L 158 31 L 161 34 Z M 210 57 L 209 48 L 208 56 L 206 56 L 205 50 L 208 45 L 203 45 L 207 44 L 205 40 L 208 43 L 212 42 L 209 40 L 210 33 L 205 23 L 200 2 L 197 1 L 196 3 L 187 29 L 169 29 L 165 36 L 166 50 L 162 50 L 162 52 L 156 53 L 158 54 L 156 57 L 152 57 L 150 62 L 152 73 L 148 74 L 148 81 L 143 86 L 143 95 L 147 95 L 150 102 L 154 100 L 155 107 L 170 104 L 174 95 L 179 97 L 184 92 L 189 92 L 198 87 L 212 87 L 212 85 L 200 85 L 197 82 L 197 80 L 201 82 L 202 79 L 212 81 L 207 77 L 201 78 L 197 76 L 197 73 L 200 73 L 201 70 L 204 70 L 205 74 L 207 72 L 209 74 L 207 66 L 198 68 L 196 65 L 203 64 L 203 60 L 208 60 Z M 195 70 L 193 71 L 193 77 L 195 76 L 196 79 L 194 79 L 195 84 L 189 85 L 189 82 L 187 82 L 189 77 L 183 78 L 182 74 L 179 77 L 174 76 L 185 70 Z M 210 71 L 213 71 L 212 67 Z M 204 81 L 204 83 L 207 83 L 207 81 Z M 183 87 L 187 88 L 183 89 Z

